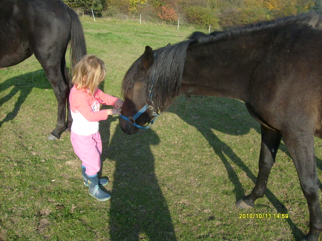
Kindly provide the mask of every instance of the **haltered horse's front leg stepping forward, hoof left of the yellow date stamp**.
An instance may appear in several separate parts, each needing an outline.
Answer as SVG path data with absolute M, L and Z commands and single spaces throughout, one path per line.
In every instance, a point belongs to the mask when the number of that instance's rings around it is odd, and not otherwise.
M 267 128 L 263 125 L 261 129 L 261 147 L 259 158 L 259 171 L 255 187 L 251 193 L 236 201 L 236 206 L 242 209 L 254 207 L 254 201 L 265 194 L 270 169 L 274 165 L 277 150 L 281 140 L 281 134 L 277 130 Z

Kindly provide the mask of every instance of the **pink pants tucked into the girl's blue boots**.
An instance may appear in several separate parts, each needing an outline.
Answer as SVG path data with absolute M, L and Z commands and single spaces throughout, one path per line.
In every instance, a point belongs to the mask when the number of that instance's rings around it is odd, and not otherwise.
M 75 154 L 81 159 L 86 167 L 88 176 L 96 175 L 100 170 L 100 155 L 102 153 L 102 140 L 99 132 L 89 136 L 77 135 L 71 131 L 71 145 Z

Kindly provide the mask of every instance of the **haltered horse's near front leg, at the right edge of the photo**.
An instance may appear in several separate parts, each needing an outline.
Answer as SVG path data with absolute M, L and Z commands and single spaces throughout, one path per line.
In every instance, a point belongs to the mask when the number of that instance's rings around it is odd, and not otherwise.
M 301 189 L 308 202 L 310 229 L 302 241 L 317 241 L 322 230 L 322 215 L 319 203 L 314 136 L 310 133 L 283 133 L 283 139 L 293 159 Z

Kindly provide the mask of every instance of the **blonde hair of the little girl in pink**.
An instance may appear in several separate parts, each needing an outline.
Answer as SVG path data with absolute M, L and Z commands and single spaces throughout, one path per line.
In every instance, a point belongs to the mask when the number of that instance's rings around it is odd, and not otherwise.
M 88 89 L 90 95 L 94 95 L 105 76 L 104 62 L 95 55 L 85 55 L 74 68 L 72 83 L 76 89 Z

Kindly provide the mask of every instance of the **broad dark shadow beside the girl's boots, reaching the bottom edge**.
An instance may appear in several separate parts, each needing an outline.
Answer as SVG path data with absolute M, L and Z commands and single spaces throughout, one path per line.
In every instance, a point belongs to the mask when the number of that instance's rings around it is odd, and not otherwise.
M 109 126 L 116 120 L 109 117 L 100 124 L 101 160 L 115 161 L 111 178 L 110 239 L 139 240 L 147 236 L 149 240 L 176 241 L 166 200 L 154 172 L 151 146 L 159 143 L 159 137 L 151 129 L 128 136 L 117 128 L 110 139 Z M 143 141 L 137 142 L 138 138 Z

